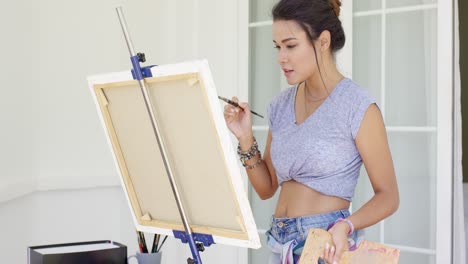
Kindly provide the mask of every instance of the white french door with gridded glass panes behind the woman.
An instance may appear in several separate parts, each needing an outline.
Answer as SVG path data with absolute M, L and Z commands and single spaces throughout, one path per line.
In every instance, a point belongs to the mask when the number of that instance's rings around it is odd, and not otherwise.
M 249 85 L 243 93 L 252 109 L 262 113 L 287 87 L 272 45 L 275 2 L 240 4 L 249 13 L 248 70 L 240 71 Z M 366 239 L 399 248 L 400 263 L 451 263 L 452 7 L 448 0 L 343 1 L 347 43 L 337 64 L 376 98 L 400 188 L 399 210 L 367 228 Z M 254 117 L 254 133 L 264 149 L 266 120 Z M 363 168 L 352 208 L 372 195 Z M 249 263 L 266 263 L 264 233 L 277 195 L 262 201 L 249 188 L 249 198 L 263 239 L 261 250 L 249 251 Z

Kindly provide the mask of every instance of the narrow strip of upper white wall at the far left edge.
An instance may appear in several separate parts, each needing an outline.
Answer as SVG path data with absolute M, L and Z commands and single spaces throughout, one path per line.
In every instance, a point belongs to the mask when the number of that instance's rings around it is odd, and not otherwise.
M 0 201 L 33 189 L 31 1 L 0 9 Z

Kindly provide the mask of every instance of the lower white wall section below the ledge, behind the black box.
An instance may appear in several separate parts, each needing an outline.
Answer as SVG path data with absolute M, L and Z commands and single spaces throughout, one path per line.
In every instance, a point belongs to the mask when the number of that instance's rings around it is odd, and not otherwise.
M 113 240 L 135 254 L 135 229 L 121 187 L 36 192 L 0 204 L 1 263 L 26 263 L 28 246 Z M 147 234 L 147 243 L 152 240 Z M 202 253 L 204 263 L 243 263 L 239 249 L 213 245 Z M 186 263 L 187 244 L 170 237 L 162 263 Z M 133 259 L 134 261 L 134 259 Z M 136 263 L 131 262 L 131 263 Z

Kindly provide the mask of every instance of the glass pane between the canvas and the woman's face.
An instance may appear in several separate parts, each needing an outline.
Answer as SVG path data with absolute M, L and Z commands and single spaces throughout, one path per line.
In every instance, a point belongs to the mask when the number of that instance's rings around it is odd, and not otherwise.
M 251 108 L 265 116 L 253 117 L 254 125 L 268 125 L 267 107 L 281 90 L 281 71 L 276 62 L 271 26 L 250 29 L 250 80 Z

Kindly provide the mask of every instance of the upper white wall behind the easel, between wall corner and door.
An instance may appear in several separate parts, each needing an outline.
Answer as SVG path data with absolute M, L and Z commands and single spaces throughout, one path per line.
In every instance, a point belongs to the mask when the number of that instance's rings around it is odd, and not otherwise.
M 149 64 L 207 58 L 219 93 L 234 94 L 236 13 L 229 11 L 235 2 L 35 1 L 35 160 L 41 190 L 116 183 L 86 76 L 130 68 L 114 10 L 120 2 L 135 48 Z

